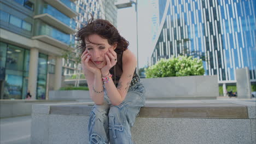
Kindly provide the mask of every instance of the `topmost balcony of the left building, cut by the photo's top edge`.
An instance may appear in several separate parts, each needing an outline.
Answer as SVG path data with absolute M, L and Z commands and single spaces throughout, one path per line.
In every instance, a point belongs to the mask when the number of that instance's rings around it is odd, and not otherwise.
M 44 0 L 45 2 L 53 5 L 54 8 L 61 11 L 61 13 L 69 16 L 75 17 L 78 14 L 75 12 L 75 4 L 71 1 L 67 0 Z

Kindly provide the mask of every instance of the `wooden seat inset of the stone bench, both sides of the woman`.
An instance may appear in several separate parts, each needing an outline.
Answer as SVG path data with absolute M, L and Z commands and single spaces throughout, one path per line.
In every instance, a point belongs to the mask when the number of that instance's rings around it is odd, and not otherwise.
M 42 105 L 39 105 L 42 106 Z M 51 105 L 47 107 L 52 115 L 89 116 L 92 106 Z M 254 107 L 255 108 L 255 107 Z M 45 109 L 45 108 L 42 108 Z M 38 110 L 39 113 L 41 110 Z M 36 111 L 34 111 L 36 112 Z M 138 117 L 154 118 L 248 118 L 247 107 L 232 103 L 222 104 L 147 104 L 141 108 Z

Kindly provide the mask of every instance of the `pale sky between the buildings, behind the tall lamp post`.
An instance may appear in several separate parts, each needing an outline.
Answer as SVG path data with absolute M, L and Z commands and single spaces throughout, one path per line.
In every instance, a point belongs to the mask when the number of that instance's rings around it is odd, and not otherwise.
M 152 41 L 152 5 L 148 0 L 138 1 L 138 65 L 144 67 L 154 50 Z M 137 56 L 136 11 L 135 4 L 130 8 L 118 9 L 117 28 L 120 34 L 129 41 L 129 49 Z

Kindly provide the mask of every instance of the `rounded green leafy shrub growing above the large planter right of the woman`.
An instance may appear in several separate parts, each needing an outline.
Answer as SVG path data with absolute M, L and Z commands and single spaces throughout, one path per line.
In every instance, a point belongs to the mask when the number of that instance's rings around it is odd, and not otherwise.
M 146 69 L 146 78 L 203 75 L 202 59 L 179 56 L 161 59 L 158 63 Z

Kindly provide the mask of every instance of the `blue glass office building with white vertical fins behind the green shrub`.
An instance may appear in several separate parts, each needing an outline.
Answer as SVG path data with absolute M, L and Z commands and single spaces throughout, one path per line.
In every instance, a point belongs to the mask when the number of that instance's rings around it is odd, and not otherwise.
M 256 80 L 256 1 L 159 1 L 160 31 L 151 64 L 171 56 L 203 59 L 205 75 L 236 82 L 236 69 Z

